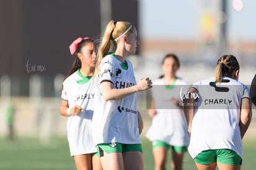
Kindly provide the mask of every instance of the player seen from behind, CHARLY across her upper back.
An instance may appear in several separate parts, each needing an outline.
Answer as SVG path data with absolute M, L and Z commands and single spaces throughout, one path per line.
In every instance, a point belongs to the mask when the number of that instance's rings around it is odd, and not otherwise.
M 238 81 L 239 63 L 221 56 L 215 77 L 189 88 L 184 111 L 189 126 L 189 153 L 198 170 L 241 169 L 242 138 L 252 119 L 249 89 Z

